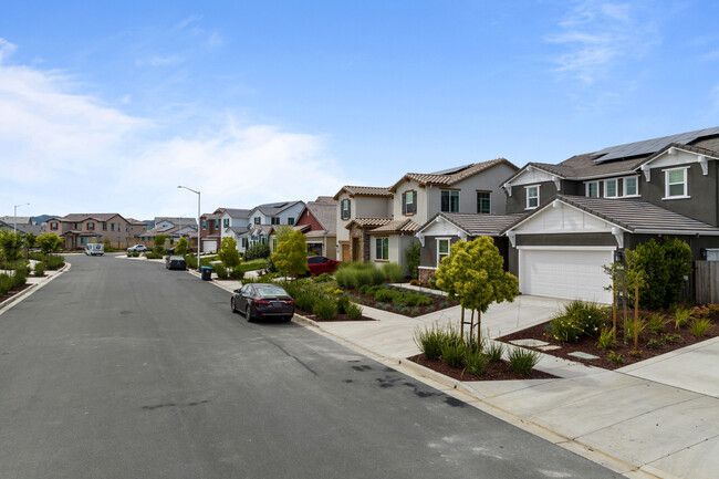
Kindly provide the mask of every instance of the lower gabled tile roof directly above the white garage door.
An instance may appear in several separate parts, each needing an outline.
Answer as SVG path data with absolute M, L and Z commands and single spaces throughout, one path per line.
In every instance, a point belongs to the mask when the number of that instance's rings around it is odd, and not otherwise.
M 554 201 L 562 201 L 573 206 L 633 233 L 719 236 L 719 228 L 717 227 L 669 211 L 650 202 L 570 195 L 556 195 L 553 200 L 506 228 L 503 232 L 528 221 L 551 207 Z

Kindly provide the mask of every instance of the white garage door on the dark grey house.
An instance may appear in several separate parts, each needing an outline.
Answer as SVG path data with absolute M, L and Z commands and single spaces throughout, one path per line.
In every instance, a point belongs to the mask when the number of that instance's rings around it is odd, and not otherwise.
M 602 265 L 611 264 L 612 249 L 544 250 L 521 248 L 520 291 L 539 296 L 611 303 L 611 284 Z

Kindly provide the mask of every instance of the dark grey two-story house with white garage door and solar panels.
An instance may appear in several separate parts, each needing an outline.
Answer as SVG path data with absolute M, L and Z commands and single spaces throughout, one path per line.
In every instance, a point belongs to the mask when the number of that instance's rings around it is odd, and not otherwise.
M 603 265 L 652 238 L 719 251 L 719 127 L 530 163 L 509 178 L 502 232 L 520 291 L 611 302 Z

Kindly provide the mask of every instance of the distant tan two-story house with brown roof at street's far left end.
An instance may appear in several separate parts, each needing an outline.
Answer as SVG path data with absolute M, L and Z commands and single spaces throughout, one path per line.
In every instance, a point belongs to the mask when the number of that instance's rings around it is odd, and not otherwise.
M 45 223 L 48 232 L 56 233 L 63 239 L 65 249 L 84 248 L 87 243 L 105 239 L 108 239 L 113 247 L 126 248 L 137 236 L 134 225 L 116 212 L 71 214 L 50 218 Z

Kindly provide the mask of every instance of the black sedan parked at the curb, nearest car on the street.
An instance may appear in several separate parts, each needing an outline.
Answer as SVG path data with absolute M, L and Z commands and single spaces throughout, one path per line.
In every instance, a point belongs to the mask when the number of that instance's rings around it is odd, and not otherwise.
M 230 306 L 233 313 L 241 311 L 250 322 L 261 317 L 290 321 L 294 315 L 294 300 L 277 284 L 246 284 L 235 290 Z

